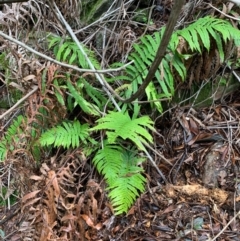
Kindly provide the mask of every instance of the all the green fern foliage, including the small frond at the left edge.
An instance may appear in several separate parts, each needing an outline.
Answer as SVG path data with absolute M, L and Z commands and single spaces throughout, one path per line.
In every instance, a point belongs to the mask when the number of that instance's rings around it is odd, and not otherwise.
M 122 97 L 129 98 L 144 81 L 163 32 L 164 28 L 153 35 L 144 35 L 139 43 L 133 45 L 133 51 L 128 57 L 129 61 L 133 61 L 132 64 L 129 64 L 121 74 L 104 76 Z M 178 48 L 180 38 L 184 39 L 184 51 L 179 51 Z M 172 35 L 167 53 L 155 73 L 155 79 L 145 89 L 147 100 L 151 103 L 151 111 L 157 110 L 162 113 L 161 100 L 173 97 L 176 79 L 181 81 L 186 79 L 187 59 L 196 54 L 201 55 L 203 51 L 209 52 L 214 43 L 223 62 L 224 44 L 231 39 L 235 45 L 238 45 L 240 31 L 227 21 L 212 17 L 201 18 L 188 27 L 177 30 Z M 86 56 L 71 39 L 62 40 L 51 35 L 49 48 L 53 49 L 59 61 L 89 69 Z M 83 48 L 94 67 L 101 69 L 95 53 L 84 45 Z M 115 66 L 122 67 L 123 63 L 115 63 L 112 67 Z M 58 125 L 43 130 L 39 143 L 42 146 L 61 146 L 66 149 L 81 146 L 86 157 L 92 158 L 92 163 L 104 176 L 108 185 L 108 197 L 115 213 L 126 213 L 145 188 L 146 178 L 141 164 L 146 157 L 142 153 L 146 151 L 146 145 L 153 143 L 153 121 L 149 116 L 142 116 L 142 107 L 138 103 L 123 104 L 119 101 L 122 111 L 118 112 L 108 101 L 93 73 L 78 76 L 75 72 L 71 72 L 60 76 L 56 71 L 55 74 L 56 77 L 51 83 L 53 87 L 51 94 L 55 95 L 60 105 L 68 112 L 71 113 L 78 106 L 81 115 L 92 117 L 94 122 L 89 124 L 85 123 L 86 121 L 70 121 L 63 118 Z M 124 88 L 119 88 L 115 83 L 120 83 Z M 4 160 L 7 152 L 11 150 L 13 138 L 14 141 L 20 140 L 22 121 L 23 117 L 18 117 L 2 138 L 1 160 Z M 101 132 L 101 143 L 96 141 L 97 131 Z M 92 151 L 89 151 L 89 146 Z M 88 147 L 88 150 L 84 149 L 85 147 Z

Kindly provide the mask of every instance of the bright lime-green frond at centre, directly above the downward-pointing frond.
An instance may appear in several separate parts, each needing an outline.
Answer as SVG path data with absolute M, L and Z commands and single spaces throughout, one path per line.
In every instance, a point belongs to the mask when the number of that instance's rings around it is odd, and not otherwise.
M 99 124 L 91 130 L 110 130 L 107 131 L 108 142 L 116 143 L 116 139 L 121 137 L 123 140 L 130 139 L 137 147 L 144 150 L 143 143 L 152 143 L 153 139 L 145 129 L 154 130 L 153 121 L 148 116 L 131 119 L 128 113 L 110 112 L 97 121 Z

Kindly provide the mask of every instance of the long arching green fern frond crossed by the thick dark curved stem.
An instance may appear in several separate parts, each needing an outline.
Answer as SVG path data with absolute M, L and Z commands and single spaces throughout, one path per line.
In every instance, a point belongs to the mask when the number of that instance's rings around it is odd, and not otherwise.
M 114 77 L 114 80 L 131 83 L 131 86 L 124 93 L 126 97 L 136 92 L 147 76 L 163 32 L 164 28 L 153 35 L 141 37 L 140 43 L 133 45 L 134 51 L 128 57 L 128 60 L 133 61 L 133 64 L 126 67 L 123 75 Z M 184 38 L 186 41 L 186 53 L 184 54 L 178 52 L 180 38 Z M 239 45 L 240 31 L 235 29 L 228 21 L 210 16 L 200 18 L 188 27 L 177 30 L 172 35 L 167 53 L 155 73 L 156 81 L 152 81 L 145 90 L 148 100 L 154 100 L 152 105 L 155 105 L 157 110 L 162 112 L 161 102 L 156 100 L 166 97 L 171 98 L 174 95 L 176 74 L 180 79 L 185 80 L 187 71 L 184 60 L 196 53 L 201 54 L 203 49 L 209 52 L 212 41 L 215 41 L 220 59 L 223 61 L 223 44 L 230 39 L 234 40 L 235 45 Z M 123 66 L 122 63 L 115 65 Z

